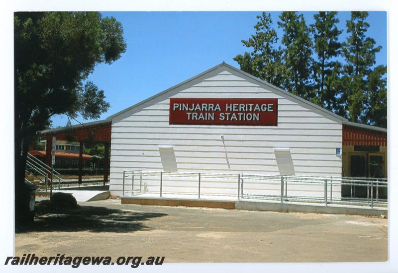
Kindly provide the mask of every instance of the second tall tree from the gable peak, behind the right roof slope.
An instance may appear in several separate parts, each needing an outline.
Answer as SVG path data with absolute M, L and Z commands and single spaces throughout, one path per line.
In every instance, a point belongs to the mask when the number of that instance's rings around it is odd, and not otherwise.
M 312 41 L 304 16 L 296 11 L 284 11 L 279 16 L 279 27 L 284 31 L 283 61 L 287 71 L 286 88 L 301 98 L 311 100 L 315 93 L 310 84 Z

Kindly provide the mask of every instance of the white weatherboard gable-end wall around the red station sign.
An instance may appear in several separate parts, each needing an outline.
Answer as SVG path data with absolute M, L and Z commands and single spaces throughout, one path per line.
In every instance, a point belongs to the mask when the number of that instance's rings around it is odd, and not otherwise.
M 278 98 L 278 126 L 169 125 L 170 97 Z M 296 175 L 338 177 L 342 163 L 336 148 L 341 145 L 340 119 L 244 73 L 219 66 L 112 118 L 110 191 L 122 194 L 123 170 L 163 171 L 159 146 L 173 147 L 179 172 L 279 175 L 276 150 L 289 148 Z M 139 181 L 134 181 L 137 189 Z M 245 193 L 280 192 L 280 182 L 249 182 L 245 181 Z M 143 184 L 148 191 L 159 191 L 159 178 L 144 177 Z M 196 193 L 198 179 L 164 177 L 163 186 L 164 192 Z M 203 178 L 201 186 L 202 194 L 225 191 L 225 187 L 230 188 L 227 193 L 237 194 L 236 179 L 225 183 Z M 126 178 L 125 189 L 131 189 L 131 178 Z M 289 185 L 288 194 L 323 196 L 323 186 Z M 333 197 L 340 196 L 340 187 L 333 187 Z

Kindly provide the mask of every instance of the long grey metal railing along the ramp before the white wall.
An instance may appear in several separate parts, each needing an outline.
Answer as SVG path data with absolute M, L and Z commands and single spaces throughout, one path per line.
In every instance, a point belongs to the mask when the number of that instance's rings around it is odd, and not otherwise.
M 365 188 L 367 196 L 342 197 L 342 186 Z M 212 196 L 373 207 L 387 205 L 387 199 L 380 197 L 380 191 L 387 193 L 387 188 L 385 178 L 123 171 L 122 195 L 146 193 L 198 199 Z

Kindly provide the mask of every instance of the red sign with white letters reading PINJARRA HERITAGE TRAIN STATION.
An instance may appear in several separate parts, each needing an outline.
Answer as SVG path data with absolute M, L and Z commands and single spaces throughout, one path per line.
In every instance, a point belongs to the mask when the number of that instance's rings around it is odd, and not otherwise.
M 169 124 L 277 126 L 278 99 L 170 98 Z

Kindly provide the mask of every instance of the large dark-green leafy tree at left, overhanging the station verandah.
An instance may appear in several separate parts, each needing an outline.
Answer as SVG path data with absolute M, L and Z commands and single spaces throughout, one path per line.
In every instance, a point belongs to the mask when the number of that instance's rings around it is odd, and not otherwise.
M 84 81 L 97 64 L 111 64 L 125 50 L 122 25 L 99 12 L 14 13 L 16 194 L 28 145 L 53 115 L 99 118 L 108 109 L 103 90 Z

